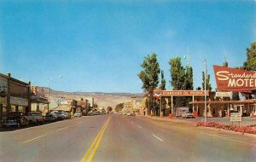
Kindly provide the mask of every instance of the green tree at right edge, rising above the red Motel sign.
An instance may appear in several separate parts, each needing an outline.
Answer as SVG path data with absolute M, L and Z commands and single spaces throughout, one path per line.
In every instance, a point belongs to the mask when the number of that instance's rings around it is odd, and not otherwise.
M 247 48 L 247 61 L 243 62 L 243 69 L 256 71 L 256 42 L 251 43 L 251 47 Z

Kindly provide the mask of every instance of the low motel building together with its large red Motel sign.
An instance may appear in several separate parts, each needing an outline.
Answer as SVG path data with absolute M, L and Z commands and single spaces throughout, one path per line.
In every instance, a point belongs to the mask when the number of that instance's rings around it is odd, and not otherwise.
M 256 72 L 213 66 L 217 92 L 207 97 L 207 117 L 230 117 L 230 113 L 256 117 L 256 99 L 231 101 L 233 91 L 253 95 L 256 90 Z M 204 99 L 190 101 L 189 105 L 198 116 L 206 116 Z

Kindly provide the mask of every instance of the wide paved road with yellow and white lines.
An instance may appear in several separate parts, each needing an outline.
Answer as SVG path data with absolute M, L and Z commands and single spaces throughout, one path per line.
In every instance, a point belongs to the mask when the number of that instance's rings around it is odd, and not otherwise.
M 0 161 L 256 161 L 256 138 L 113 115 L 0 132 Z

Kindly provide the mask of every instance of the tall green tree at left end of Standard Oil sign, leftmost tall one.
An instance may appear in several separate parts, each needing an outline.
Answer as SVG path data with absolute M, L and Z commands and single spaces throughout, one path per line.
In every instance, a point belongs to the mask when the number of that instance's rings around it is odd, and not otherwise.
M 144 57 L 143 71 L 138 73 L 138 77 L 143 82 L 143 90 L 144 92 L 149 94 L 149 109 L 153 109 L 156 106 L 155 101 L 153 100 L 153 90 L 158 87 L 159 84 L 159 74 L 160 74 L 160 66 L 157 61 L 157 55 L 147 55 Z M 151 106 L 151 107 L 150 107 Z

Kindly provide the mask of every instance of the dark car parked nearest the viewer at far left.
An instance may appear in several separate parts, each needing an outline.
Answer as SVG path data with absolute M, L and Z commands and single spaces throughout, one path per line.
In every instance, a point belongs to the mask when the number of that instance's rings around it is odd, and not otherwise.
M 28 120 L 24 113 L 20 112 L 11 112 L 7 117 L 3 117 L 2 121 L 3 126 L 15 125 L 20 127 L 21 125 L 28 125 Z

